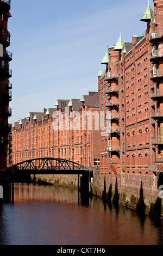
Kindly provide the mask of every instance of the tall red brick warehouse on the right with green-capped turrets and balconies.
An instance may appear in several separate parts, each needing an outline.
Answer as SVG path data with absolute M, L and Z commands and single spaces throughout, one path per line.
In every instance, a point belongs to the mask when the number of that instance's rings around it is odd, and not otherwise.
M 141 17 L 146 34 L 124 42 L 120 32 L 101 62 L 106 68 L 98 74 L 99 109 L 109 111 L 110 132 L 100 138 L 100 174 L 108 184 L 118 180 L 122 187 L 140 187 L 142 182 L 149 188 L 152 175 L 157 189 L 161 177 L 156 171 L 163 170 L 162 13 L 162 1 L 154 1 L 154 11 L 148 3 Z

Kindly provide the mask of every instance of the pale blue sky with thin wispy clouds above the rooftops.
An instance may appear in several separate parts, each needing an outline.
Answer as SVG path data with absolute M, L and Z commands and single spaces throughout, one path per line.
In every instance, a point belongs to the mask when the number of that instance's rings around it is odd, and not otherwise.
M 153 9 L 153 1 L 149 3 Z M 107 45 L 142 35 L 148 0 L 11 0 L 12 117 L 9 123 L 98 90 Z M 102 65 L 105 72 L 105 65 Z

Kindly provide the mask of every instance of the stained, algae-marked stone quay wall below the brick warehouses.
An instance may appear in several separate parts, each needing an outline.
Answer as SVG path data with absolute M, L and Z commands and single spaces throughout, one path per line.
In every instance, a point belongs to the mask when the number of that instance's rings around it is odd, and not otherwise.
M 36 182 L 66 187 L 78 187 L 78 175 L 31 175 Z M 126 206 L 127 208 L 140 211 L 144 214 L 156 214 L 163 217 L 162 199 L 159 197 L 159 190 L 142 176 L 139 180 L 135 178 L 135 186 L 130 182 L 122 181 L 121 175 L 100 176 L 98 172 L 93 172 L 91 178 L 91 194 L 102 198 L 104 202 L 113 202 Z M 136 181 L 137 179 L 137 181 Z M 162 193 L 163 194 L 163 193 Z

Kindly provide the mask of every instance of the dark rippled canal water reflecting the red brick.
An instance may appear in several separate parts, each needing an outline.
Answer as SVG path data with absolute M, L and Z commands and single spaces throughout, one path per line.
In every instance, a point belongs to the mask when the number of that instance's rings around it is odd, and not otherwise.
M 0 245 L 163 245 L 163 221 L 59 186 L 15 184 Z

